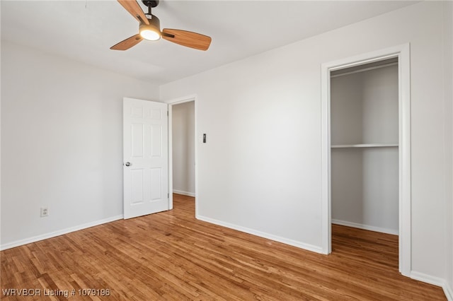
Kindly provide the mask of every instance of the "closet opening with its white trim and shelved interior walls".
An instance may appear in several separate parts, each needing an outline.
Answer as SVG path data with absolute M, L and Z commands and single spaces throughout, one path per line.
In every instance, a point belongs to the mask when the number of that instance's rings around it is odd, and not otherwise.
M 332 224 L 396 234 L 399 271 L 409 276 L 409 45 L 321 68 L 323 252 L 332 252 Z

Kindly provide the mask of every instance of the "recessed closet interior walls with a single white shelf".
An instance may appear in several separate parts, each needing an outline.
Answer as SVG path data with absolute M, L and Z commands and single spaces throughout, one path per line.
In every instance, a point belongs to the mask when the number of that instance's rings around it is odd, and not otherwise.
M 398 234 L 398 59 L 331 72 L 331 220 Z

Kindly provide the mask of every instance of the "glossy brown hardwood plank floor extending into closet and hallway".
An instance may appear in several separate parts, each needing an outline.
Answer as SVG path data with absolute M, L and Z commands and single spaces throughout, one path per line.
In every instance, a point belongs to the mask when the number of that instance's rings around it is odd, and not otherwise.
M 446 300 L 441 288 L 398 273 L 395 235 L 333 225 L 326 256 L 195 220 L 194 206 L 175 194 L 172 211 L 2 251 L 0 298 Z

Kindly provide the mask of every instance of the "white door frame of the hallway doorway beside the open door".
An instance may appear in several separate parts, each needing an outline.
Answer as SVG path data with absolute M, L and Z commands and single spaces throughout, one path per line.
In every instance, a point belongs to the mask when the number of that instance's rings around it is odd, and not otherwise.
M 180 105 L 184 102 L 194 103 L 195 111 L 195 216 L 198 216 L 197 191 L 198 191 L 198 146 L 197 146 L 197 95 L 188 95 L 181 98 L 166 100 L 168 105 L 168 192 L 170 198 L 168 205 L 173 209 L 173 105 Z

